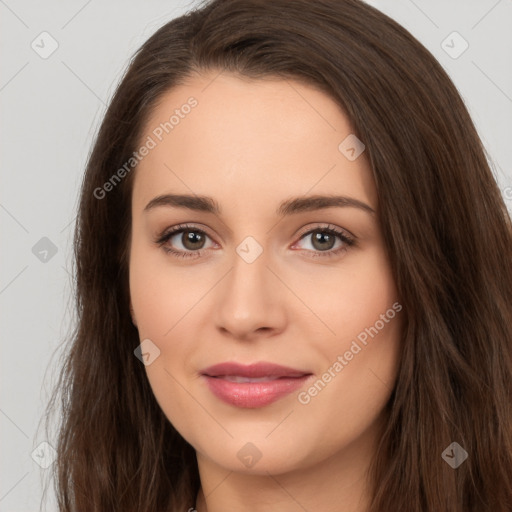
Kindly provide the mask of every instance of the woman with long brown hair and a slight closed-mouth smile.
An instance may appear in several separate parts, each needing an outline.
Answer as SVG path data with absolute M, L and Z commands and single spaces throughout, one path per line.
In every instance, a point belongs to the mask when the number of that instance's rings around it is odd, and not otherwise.
M 512 506 L 512 233 L 457 90 L 358 0 L 213 0 L 91 153 L 64 511 Z

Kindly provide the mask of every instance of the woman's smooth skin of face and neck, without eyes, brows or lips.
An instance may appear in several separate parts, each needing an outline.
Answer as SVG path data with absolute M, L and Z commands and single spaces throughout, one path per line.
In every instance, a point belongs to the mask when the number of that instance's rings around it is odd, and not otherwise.
M 270 361 L 313 373 L 299 391 L 307 390 L 399 301 L 366 155 L 349 161 L 338 149 L 353 130 L 325 93 L 218 71 L 167 92 L 141 140 L 190 96 L 197 106 L 135 171 L 130 295 L 141 341 L 160 350 L 145 367 L 155 397 L 197 453 L 196 508 L 362 512 L 365 471 L 396 380 L 403 313 L 307 404 L 294 392 L 265 407 L 238 408 L 215 397 L 199 374 L 224 361 Z M 168 193 L 210 196 L 221 214 L 144 211 Z M 376 213 L 345 206 L 276 214 L 282 201 L 316 194 L 349 196 Z M 199 256 L 178 258 L 155 243 L 180 223 L 206 231 Z M 350 233 L 356 245 L 329 258 L 325 252 L 343 246 L 340 239 L 330 249 L 314 245 L 311 234 L 301 238 L 327 225 Z M 236 252 L 247 236 L 263 249 L 250 264 Z M 181 233 L 166 242 L 193 252 L 185 244 Z M 237 457 L 248 442 L 261 453 L 250 468 Z

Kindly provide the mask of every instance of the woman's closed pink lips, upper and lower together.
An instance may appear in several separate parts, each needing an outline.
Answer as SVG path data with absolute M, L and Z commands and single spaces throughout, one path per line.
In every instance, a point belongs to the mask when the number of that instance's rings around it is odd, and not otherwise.
M 269 405 L 300 388 L 311 372 L 259 362 L 226 362 L 200 372 L 210 391 L 224 402 L 242 408 Z

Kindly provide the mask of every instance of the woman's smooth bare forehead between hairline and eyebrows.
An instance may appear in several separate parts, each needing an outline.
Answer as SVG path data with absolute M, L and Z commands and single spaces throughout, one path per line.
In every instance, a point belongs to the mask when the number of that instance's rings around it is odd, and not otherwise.
M 325 93 L 293 80 L 209 72 L 162 95 L 141 143 L 134 209 L 155 195 L 194 193 L 248 211 L 293 195 L 347 193 L 376 205 L 366 156 L 339 145 L 352 128 Z M 352 135 L 353 136 L 353 135 Z

